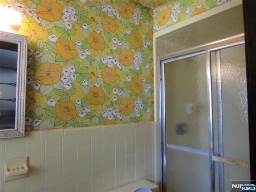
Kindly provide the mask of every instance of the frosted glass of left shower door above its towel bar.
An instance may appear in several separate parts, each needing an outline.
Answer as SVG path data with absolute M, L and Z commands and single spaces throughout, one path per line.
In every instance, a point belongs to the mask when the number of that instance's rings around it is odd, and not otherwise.
M 164 72 L 166 142 L 208 151 L 205 54 L 166 63 Z

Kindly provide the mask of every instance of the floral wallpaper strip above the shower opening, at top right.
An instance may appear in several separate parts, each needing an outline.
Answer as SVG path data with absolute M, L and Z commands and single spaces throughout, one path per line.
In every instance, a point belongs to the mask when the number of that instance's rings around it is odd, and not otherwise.
M 154 32 L 214 8 L 228 0 L 169 0 L 154 8 Z M 152 4 L 150 0 L 146 1 Z

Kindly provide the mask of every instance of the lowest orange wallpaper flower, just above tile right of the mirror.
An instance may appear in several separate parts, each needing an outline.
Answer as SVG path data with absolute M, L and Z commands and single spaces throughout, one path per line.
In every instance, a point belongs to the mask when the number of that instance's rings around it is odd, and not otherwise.
M 76 106 L 72 101 L 67 101 L 65 103 L 57 102 L 55 104 L 56 115 L 62 121 L 69 121 L 76 117 L 77 111 Z

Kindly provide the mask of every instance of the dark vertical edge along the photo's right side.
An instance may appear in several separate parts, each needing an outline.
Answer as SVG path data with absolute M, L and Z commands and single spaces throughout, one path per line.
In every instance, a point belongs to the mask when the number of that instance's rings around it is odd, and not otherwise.
M 250 176 L 251 180 L 256 180 L 256 1 L 243 0 L 242 3 L 248 92 Z

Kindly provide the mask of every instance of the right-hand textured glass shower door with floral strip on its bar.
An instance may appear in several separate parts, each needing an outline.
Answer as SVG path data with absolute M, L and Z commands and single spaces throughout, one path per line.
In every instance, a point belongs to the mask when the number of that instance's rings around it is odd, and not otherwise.
M 210 51 L 210 60 L 215 191 L 226 192 L 236 190 L 231 181 L 250 180 L 244 44 Z

